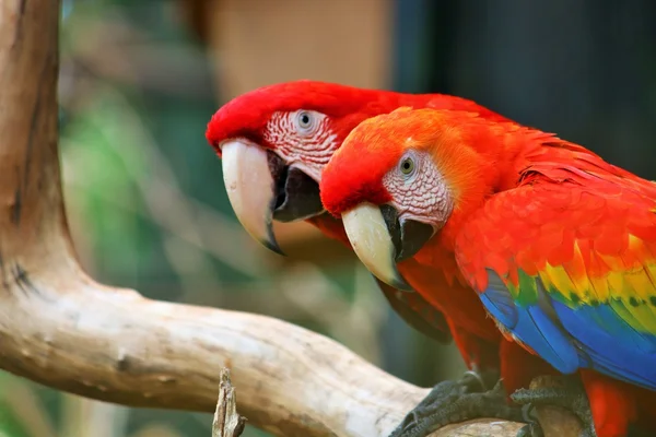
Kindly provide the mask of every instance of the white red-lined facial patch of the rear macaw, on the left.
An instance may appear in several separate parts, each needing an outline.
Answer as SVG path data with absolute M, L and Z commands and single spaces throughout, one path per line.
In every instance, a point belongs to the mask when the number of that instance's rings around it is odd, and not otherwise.
M 329 121 L 325 114 L 315 110 L 274 113 L 263 137 L 289 165 L 294 164 L 318 182 L 324 166 L 339 146 Z

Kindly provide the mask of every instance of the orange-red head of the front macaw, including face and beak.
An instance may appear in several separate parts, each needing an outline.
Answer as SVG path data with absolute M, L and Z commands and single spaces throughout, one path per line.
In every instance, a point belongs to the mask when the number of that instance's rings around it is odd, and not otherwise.
M 494 191 L 500 147 L 489 145 L 518 129 L 454 110 L 403 107 L 370 118 L 325 167 L 321 201 L 368 270 L 410 290 L 397 263 Z

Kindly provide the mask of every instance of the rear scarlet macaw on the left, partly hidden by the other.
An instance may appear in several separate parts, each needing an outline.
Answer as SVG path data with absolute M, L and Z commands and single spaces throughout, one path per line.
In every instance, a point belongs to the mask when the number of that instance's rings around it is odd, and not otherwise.
M 266 247 L 281 252 L 271 229 L 272 220 L 306 220 L 324 234 L 349 245 L 341 220 L 327 214 L 320 202 L 321 172 L 353 128 L 400 106 L 467 110 L 490 120 L 512 122 L 471 101 L 442 94 L 402 94 L 316 81 L 281 83 L 246 93 L 221 107 L 206 133 L 222 158 L 229 198 L 246 231 Z M 412 260 L 406 262 L 408 269 L 412 269 Z M 476 296 L 469 295 L 468 286 L 450 275 L 436 280 L 433 274 L 422 275 L 419 265 L 415 270 L 413 285 L 420 293 L 399 291 L 380 281 L 378 285 L 409 324 L 442 342 L 453 335 L 466 365 L 483 376 L 481 382 L 480 377 L 471 378 L 469 373 L 455 385 L 440 386 L 420 405 L 432 408 L 422 411 L 441 424 L 466 418 L 446 410 L 442 415 L 434 414 L 434 410 L 447 395 L 446 391 L 453 395 L 454 391 L 472 391 L 475 387 L 491 388 L 504 367 L 506 388 L 526 386 L 524 382 L 530 378 L 522 369 L 507 371 L 507 361 L 500 362 L 500 343 L 502 355 L 526 354 L 514 343 L 503 341 Z M 422 288 L 426 292 L 421 293 Z M 440 295 L 449 293 L 476 305 L 466 303 L 445 317 L 435 303 L 440 303 Z M 456 323 L 462 319 L 458 315 L 461 310 L 469 312 L 468 319 L 478 318 L 476 323 Z M 520 417 L 515 411 L 500 411 L 494 398 L 480 399 L 483 404 L 478 410 L 470 408 L 470 416 L 478 411 L 487 416 L 495 413 Z

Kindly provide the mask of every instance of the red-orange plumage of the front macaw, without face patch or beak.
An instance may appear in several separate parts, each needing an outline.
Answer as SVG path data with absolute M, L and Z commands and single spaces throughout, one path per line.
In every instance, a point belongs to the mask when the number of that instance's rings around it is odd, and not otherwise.
M 394 175 L 397 163 L 410 149 L 432 156 L 455 205 L 444 227 L 398 269 L 426 300 L 448 315 L 454 331 L 461 327 L 479 339 L 493 341 L 487 330 L 495 328 L 491 319 L 482 320 L 483 306 L 469 285 L 481 293 L 487 290 L 485 268 L 517 285 L 519 277 L 514 265 L 520 265 L 524 275 L 537 274 L 546 263 L 563 265 L 566 271 L 560 280 L 575 286 L 577 280 L 593 281 L 601 273 L 637 273 L 643 264 L 655 261 L 655 184 L 552 134 L 517 125 L 492 123 L 470 114 L 398 110 L 364 121 L 325 168 L 320 186 L 324 204 L 339 214 L 376 198 L 398 202 L 383 179 L 393 180 L 388 176 Z M 384 163 L 385 167 L 370 168 L 359 162 Z M 360 190 L 358 198 L 348 188 L 353 184 L 383 187 L 386 193 Z M 503 201 L 505 197 L 507 201 Z M 408 203 L 395 205 L 410 208 Z M 413 214 L 419 213 L 413 210 Z M 540 232 L 536 232 L 538 226 Z M 577 253 L 582 255 L 575 256 L 575 240 L 594 247 L 578 246 Z M 618 297 L 630 290 L 645 293 L 654 286 L 646 268 L 640 277 L 626 274 L 625 281 L 639 286 L 616 290 Z M 526 290 L 527 295 L 514 298 L 530 299 L 531 288 Z M 558 290 L 567 291 L 562 286 Z M 576 294 L 577 302 L 589 298 L 578 290 L 575 286 L 570 291 Z M 641 305 L 645 311 L 652 310 L 649 299 L 634 297 L 631 302 L 624 307 L 628 314 L 639 311 Z M 528 300 L 523 305 L 529 305 Z M 654 326 L 653 318 L 641 319 L 647 317 L 645 312 L 626 317 L 635 317 L 637 321 L 632 323 Z M 642 329 L 646 333 L 654 330 Z M 515 332 L 504 329 L 504 334 L 509 342 L 501 347 L 502 376 L 509 390 L 526 387 L 535 376 L 554 371 L 542 359 L 518 349 Z M 630 334 L 633 332 L 626 335 Z M 464 355 L 473 350 L 469 347 Z M 621 363 L 621 358 L 617 359 Z M 643 427 L 656 427 L 656 392 L 595 370 L 582 369 L 579 374 L 599 437 L 625 436 L 629 424 L 636 418 Z

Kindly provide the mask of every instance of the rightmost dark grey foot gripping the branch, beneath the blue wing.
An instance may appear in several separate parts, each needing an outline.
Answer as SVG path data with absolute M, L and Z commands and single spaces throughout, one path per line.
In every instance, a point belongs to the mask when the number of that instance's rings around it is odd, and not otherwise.
M 563 383 L 559 387 L 519 389 L 511 394 L 511 398 L 529 411 L 538 405 L 561 406 L 581 421 L 583 425 L 581 437 L 596 437 L 593 413 L 583 385 L 574 377 L 562 377 L 562 380 Z M 530 412 L 527 415 L 530 416 Z M 542 437 L 543 435 L 540 424 L 535 418 L 517 433 L 517 437 Z

